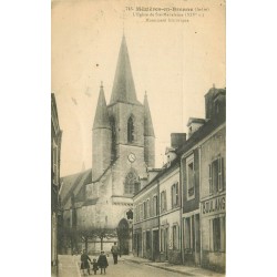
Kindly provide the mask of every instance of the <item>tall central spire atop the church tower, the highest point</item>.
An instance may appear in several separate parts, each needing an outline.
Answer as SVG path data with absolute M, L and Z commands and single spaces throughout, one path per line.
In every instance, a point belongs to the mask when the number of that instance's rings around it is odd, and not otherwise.
M 136 100 L 135 85 L 124 34 L 121 42 L 110 104 L 116 102 L 140 103 Z

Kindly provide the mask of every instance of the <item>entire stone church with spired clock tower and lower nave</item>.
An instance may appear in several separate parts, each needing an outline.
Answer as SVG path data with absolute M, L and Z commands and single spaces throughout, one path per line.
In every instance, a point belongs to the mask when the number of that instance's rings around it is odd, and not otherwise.
M 92 168 L 61 178 L 63 254 L 132 250 L 133 195 L 157 171 L 147 95 L 136 98 L 123 34 L 110 103 L 101 82 L 92 124 Z

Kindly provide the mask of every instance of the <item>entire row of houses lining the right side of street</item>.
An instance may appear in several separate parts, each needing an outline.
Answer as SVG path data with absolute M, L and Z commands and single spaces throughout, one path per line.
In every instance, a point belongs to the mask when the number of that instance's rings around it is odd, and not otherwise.
M 188 138 L 171 135 L 166 164 L 133 197 L 135 256 L 225 270 L 225 113 L 226 89 L 212 88 Z

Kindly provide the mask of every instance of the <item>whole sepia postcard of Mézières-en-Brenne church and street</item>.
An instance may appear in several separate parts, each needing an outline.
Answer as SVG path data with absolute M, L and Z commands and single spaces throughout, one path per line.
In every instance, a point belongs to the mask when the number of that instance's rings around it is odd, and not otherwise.
M 51 276 L 225 276 L 226 186 L 225 0 L 52 0 Z

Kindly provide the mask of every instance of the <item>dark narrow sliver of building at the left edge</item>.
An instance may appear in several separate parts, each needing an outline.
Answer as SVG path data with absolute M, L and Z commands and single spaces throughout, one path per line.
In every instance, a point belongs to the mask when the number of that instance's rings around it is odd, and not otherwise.
M 54 93 L 51 93 L 51 266 L 52 274 L 57 271 L 60 223 L 60 161 L 61 161 L 62 131 L 59 124 L 59 116 Z

